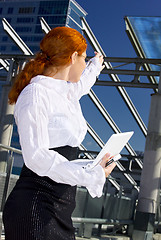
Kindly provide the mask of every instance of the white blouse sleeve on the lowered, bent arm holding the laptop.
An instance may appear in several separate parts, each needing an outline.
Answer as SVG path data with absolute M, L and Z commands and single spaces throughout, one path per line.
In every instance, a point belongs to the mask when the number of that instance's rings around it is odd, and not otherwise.
M 105 183 L 103 168 L 91 171 L 71 163 L 56 151 L 49 150 L 48 115 L 38 102 L 18 104 L 15 119 L 26 166 L 40 176 L 48 176 L 58 183 L 85 186 L 92 197 L 102 195 Z

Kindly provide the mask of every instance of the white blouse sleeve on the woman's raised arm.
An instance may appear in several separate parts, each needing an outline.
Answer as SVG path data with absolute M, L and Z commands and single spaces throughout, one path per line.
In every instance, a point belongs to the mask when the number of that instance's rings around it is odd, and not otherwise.
M 102 65 L 99 62 L 98 57 L 94 57 L 89 60 L 85 70 L 83 71 L 80 81 L 74 83 L 74 92 L 77 93 L 78 99 L 83 95 L 89 93 L 91 87 L 95 84 L 96 77 L 100 74 Z

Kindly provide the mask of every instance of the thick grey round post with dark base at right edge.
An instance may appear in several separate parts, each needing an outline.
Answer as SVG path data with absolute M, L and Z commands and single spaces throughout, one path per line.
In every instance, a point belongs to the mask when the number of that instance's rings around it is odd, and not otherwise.
M 158 93 L 152 94 L 140 194 L 134 221 L 133 240 L 152 239 L 160 187 L 161 167 L 161 75 Z

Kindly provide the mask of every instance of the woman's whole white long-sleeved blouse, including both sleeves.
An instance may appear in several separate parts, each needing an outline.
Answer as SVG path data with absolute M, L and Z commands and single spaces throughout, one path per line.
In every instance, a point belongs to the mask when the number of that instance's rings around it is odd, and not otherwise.
M 94 57 L 78 83 L 38 75 L 19 95 L 14 112 L 26 166 L 58 183 L 85 186 L 92 197 L 102 195 L 103 168 L 83 169 L 49 148 L 76 147 L 83 141 L 87 126 L 79 99 L 90 91 L 100 70 Z

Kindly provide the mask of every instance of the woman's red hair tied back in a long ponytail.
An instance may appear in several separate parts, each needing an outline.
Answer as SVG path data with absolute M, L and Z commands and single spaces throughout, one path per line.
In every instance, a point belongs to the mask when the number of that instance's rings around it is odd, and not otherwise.
M 41 51 L 17 75 L 8 95 L 9 103 L 16 103 L 31 78 L 43 74 L 44 69 L 51 66 L 65 66 L 70 62 L 73 52 L 81 55 L 86 48 L 86 40 L 77 30 L 68 27 L 53 28 L 40 42 Z

